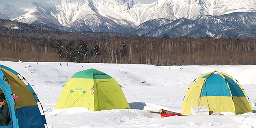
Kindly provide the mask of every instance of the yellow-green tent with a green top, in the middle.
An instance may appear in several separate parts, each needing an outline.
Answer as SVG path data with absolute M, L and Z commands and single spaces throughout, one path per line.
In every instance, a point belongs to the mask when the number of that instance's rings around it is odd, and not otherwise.
M 54 110 L 63 112 L 74 107 L 91 111 L 130 109 L 120 85 L 96 69 L 75 73 L 64 85 Z

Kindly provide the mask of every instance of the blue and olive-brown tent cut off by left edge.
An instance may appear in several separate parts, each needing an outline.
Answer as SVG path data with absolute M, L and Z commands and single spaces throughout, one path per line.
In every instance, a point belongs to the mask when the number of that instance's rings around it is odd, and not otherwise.
M 34 90 L 24 77 L 3 65 L 0 65 L 0 93 L 6 97 L 11 117 L 11 125 L 0 128 L 45 128 L 45 116 L 38 108 Z

